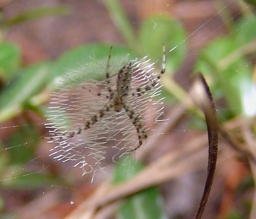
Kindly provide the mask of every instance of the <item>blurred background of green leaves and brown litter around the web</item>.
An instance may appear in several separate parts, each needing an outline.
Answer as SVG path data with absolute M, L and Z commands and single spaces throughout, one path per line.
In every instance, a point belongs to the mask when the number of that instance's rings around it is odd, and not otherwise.
M 222 129 L 204 217 L 256 218 L 255 6 L 249 1 L 52 2 L 0 3 L 0 218 L 191 218 L 208 155 L 203 116 L 188 95 L 189 75 L 196 71 L 210 85 Z M 80 170 L 49 158 L 42 124 L 57 80 L 80 70 L 78 64 L 88 64 L 92 54 L 105 59 L 110 45 L 113 57 L 161 60 L 163 42 L 168 52 L 161 82 L 169 120 L 157 127 L 164 135 L 136 152 L 129 174 L 129 167 L 111 165 L 90 184 Z

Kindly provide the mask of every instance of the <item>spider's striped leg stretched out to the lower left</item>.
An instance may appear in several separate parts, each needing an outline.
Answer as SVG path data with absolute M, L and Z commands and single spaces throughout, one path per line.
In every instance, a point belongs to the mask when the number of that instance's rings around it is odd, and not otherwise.
M 89 121 L 87 121 L 82 127 L 76 129 L 74 132 L 66 134 L 64 133 L 63 136 L 60 136 L 62 139 L 69 139 L 74 137 L 75 135 L 79 135 L 82 131 L 89 129 L 93 124 L 95 124 L 97 121 L 99 121 L 107 112 L 109 112 L 112 109 L 112 101 L 109 101 L 105 106 L 103 106 L 99 112 L 97 112 L 94 116 L 90 118 Z M 54 138 L 54 137 L 52 137 Z

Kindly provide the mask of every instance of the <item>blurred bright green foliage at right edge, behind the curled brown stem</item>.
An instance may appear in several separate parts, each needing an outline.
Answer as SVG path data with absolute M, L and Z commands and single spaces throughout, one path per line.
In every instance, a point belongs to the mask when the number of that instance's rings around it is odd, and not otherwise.
M 211 78 L 215 98 L 224 98 L 229 110 L 223 119 L 256 113 L 256 86 L 252 80 L 256 54 L 255 15 L 241 17 L 230 35 L 213 40 L 199 53 L 195 71 Z M 216 99 L 215 99 L 216 101 Z

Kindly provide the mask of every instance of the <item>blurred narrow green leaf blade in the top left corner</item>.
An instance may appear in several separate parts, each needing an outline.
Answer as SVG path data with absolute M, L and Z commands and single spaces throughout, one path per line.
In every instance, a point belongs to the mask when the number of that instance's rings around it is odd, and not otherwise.
M 33 8 L 28 11 L 22 12 L 16 15 L 14 18 L 3 20 L 2 24 L 4 27 L 10 27 L 21 22 L 25 22 L 31 19 L 38 19 L 49 15 L 66 15 L 68 14 L 68 8 L 63 5 L 56 5 L 53 7 L 40 7 Z

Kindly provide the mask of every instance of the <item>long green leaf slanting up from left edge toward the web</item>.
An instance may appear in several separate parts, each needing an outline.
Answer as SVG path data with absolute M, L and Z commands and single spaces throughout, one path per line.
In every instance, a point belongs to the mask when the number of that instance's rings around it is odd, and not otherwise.
M 20 113 L 29 98 L 45 87 L 50 67 L 51 63 L 41 63 L 25 68 L 4 88 L 0 97 L 0 122 Z

